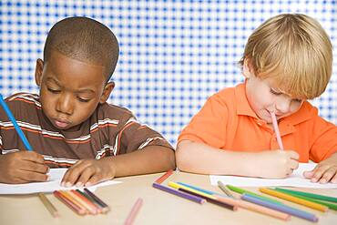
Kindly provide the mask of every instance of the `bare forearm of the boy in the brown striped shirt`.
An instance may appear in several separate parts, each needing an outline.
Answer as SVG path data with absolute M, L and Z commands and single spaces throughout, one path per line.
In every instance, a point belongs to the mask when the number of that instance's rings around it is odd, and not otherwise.
M 148 146 L 134 152 L 107 157 L 115 169 L 115 177 L 157 173 L 176 169 L 174 151 L 162 146 Z

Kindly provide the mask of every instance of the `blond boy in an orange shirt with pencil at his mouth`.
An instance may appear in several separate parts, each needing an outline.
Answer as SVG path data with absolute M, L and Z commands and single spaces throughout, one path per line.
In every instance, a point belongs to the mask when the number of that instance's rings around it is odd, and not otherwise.
M 307 101 L 332 76 L 332 43 L 322 26 L 308 15 L 273 16 L 250 35 L 240 65 L 245 82 L 209 97 L 182 130 L 178 168 L 283 179 L 311 159 L 318 165 L 304 178 L 337 183 L 337 127 Z

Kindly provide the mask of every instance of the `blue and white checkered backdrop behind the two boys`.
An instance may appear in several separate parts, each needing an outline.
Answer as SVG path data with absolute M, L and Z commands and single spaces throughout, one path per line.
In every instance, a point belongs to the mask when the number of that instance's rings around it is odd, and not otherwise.
M 120 44 L 109 102 L 175 145 L 179 132 L 207 97 L 243 81 L 238 61 L 252 30 L 281 13 L 318 19 L 332 38 L 332 80 L 312 103 L 337 122 L 337 3 L 335 1 L 70 1 L 2 0 L 0 92 L 36 92 L 36 58 L 48 30 L 67 16 L 109 26 Z

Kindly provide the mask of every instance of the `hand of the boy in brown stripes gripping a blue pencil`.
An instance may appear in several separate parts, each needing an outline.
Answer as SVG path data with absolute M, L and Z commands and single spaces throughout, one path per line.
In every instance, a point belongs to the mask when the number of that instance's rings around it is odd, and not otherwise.
M 35 151 L 18 151 L 0 155 L 0 182 L 22 184 L 46 181 L 49 168 L 42 155 Z

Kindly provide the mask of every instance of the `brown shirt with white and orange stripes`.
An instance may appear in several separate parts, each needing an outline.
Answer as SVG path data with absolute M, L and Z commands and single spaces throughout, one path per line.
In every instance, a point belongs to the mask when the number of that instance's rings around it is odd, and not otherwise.
M 33 149 L 44 156 L 50 168 L 70 167 L 78 159 L 101 159 L 150 145 L 172 148 L 157 131 L 139 124 L 124 107 L 99 104 L 77 131 L 69 132 L 51 124 L 36 94 L 18 93 L 5 101 Z M 25 149 L 23 142 L 0 108 L 1 154 L 22 149 Z

